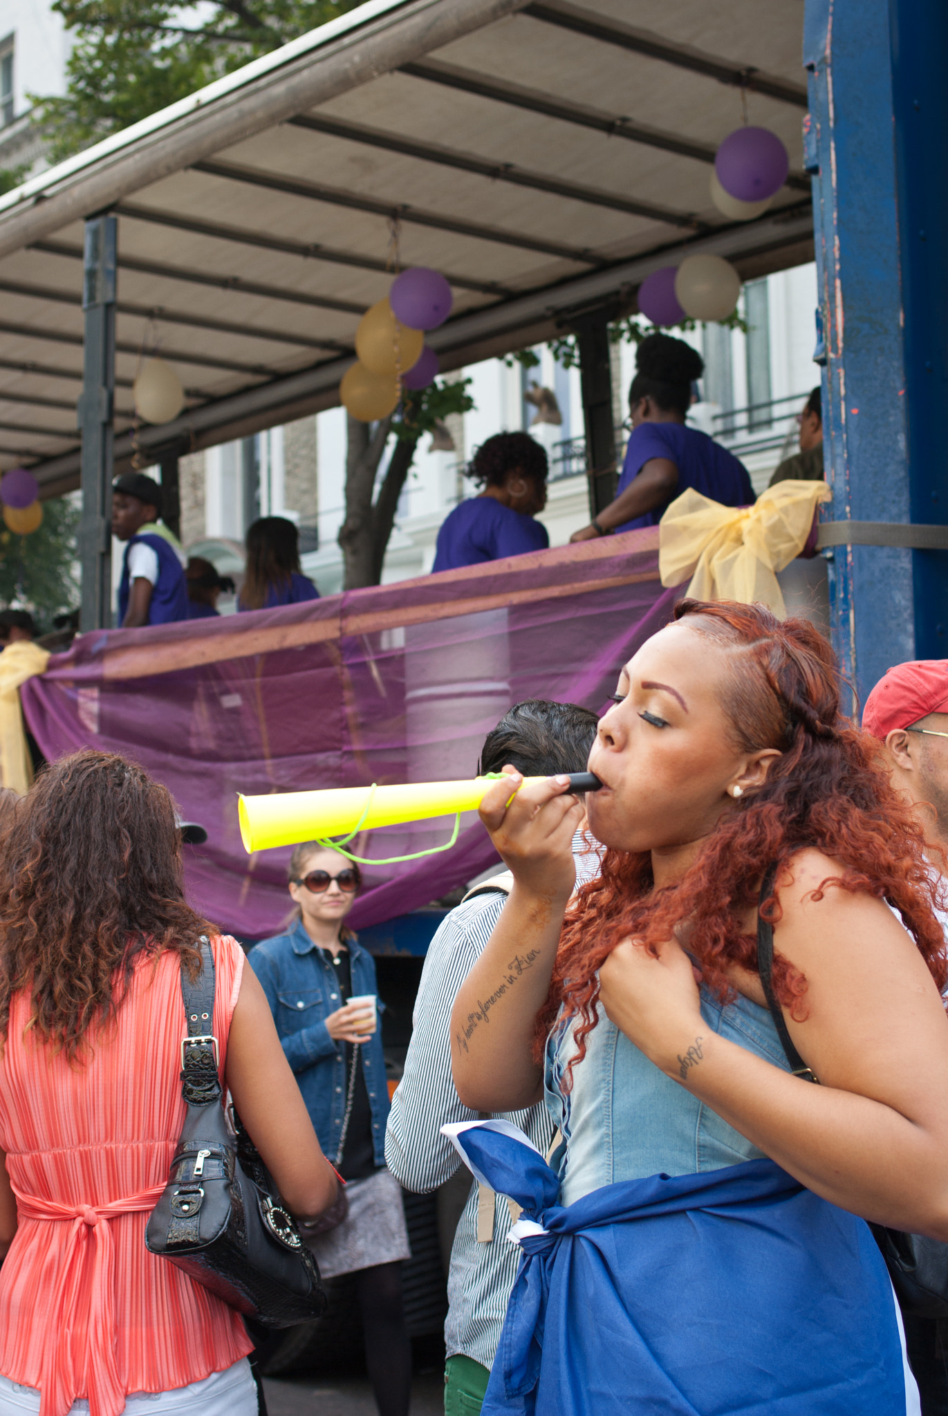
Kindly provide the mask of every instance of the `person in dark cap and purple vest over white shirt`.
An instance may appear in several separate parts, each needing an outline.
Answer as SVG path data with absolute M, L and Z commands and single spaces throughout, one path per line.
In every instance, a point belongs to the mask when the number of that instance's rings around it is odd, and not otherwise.
M 177 538 L 159 523 L 162 489 L 140 472 L 112 483 L 112 535 L 125 541 L 119 624 L 170 624 L 187 619 L 187 585 Z

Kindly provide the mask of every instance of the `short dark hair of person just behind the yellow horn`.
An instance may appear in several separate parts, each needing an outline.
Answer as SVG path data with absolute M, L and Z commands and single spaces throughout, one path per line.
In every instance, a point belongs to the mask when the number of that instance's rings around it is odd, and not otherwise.
M 588 708 L 527 698 L 487 733 L 478 773 L 500 772 L 507 762 L 524 777 L 585 772 L 598 726 Z

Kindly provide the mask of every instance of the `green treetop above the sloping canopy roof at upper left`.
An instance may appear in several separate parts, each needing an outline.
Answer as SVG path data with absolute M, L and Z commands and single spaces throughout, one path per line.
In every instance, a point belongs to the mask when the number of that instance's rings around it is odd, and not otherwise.
M 75 35 L 61 98 L 31 95 L 57 163 L 187 98 L 360 0 L 54 0 Z

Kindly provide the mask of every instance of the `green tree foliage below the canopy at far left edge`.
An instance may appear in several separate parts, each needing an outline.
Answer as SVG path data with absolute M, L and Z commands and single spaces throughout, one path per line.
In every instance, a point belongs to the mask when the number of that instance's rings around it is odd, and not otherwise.
M 30 535 L 14 535 L 0 523 L 0 605 L 16 602 L 47 629 L 52 616 L 79 603 L 77 530 L 79 508 L 68 497 L 43 503 L 43 523 Z

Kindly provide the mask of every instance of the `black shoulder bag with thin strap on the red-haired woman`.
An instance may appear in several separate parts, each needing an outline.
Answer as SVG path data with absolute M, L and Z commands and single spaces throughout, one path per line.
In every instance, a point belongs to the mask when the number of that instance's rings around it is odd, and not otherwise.
M 767 1005 L 777 1024 L 779 1039 L 786 1054 L 794 1076 L 806 1082 L 819 1078 L 806 1066 L 794 1046 L 784 1020 L 784 1010 L 777 1001 L 771 976 L 774 971 L 774 926 L 761 918 L 760 906 L 774 893 L 777 867 L 772 865 L 764 877 L 761 898 L 757 908 L 757 970 L 761 976 Z M 948 1317 L 948 1243 L 930 1239 L 927 1235 L 910 1235 L 901 1229 L 870 1223 L 873 1239 L 881 1250 L 893 1281 L 896 1297 L 903 1313 L 918 1318 Z

